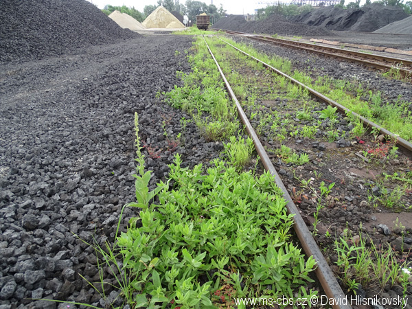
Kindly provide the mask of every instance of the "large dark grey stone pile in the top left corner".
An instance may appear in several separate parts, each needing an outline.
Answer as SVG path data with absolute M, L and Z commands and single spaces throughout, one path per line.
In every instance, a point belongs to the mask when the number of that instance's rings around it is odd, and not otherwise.
M 1 1 L 0 63 L 135 38 L 86 0 Z

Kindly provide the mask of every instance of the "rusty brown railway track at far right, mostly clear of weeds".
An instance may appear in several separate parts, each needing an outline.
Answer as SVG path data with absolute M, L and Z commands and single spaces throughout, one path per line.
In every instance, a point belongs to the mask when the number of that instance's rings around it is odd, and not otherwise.
M 307 52 L 321 54 L 332 58 L 339 58 L 342 60 L 358 62 L 367 67 L 372 67 L 380 71 L 397 72 L 402 79 L 412 82 L 412 60 L 393 58 L 388 56 L 380 56 L 378 54 L 367 54 L 363 52 L 356 52 L 349 49 L 342 49 L 337 47 L 328 47 L 324 45 L 314 45 L 299 41 L 287 40 L 285 38 L 273 38 L 270 36 L 262 36 L 258 34 L 247 34 L 244 32 L 236 32 L 231 30 L 220 30 L 227 34 L 235 34 L 240 36 L 247 36 L 255 41 L 264 43 L 271 43 L 282 45 L 295 49 L 303 49 Z

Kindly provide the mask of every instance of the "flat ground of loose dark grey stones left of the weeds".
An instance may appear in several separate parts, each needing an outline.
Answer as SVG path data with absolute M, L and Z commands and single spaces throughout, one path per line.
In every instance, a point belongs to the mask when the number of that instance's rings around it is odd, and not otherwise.
M 140 37 L 70 56 L 2 65 L 2 308 L 60 306 L 31 298 L 106 306 L 79 275 L 99 281 L 95 251 L 82 240 L 113 242 L 123 205 L 135 201 L 135 111 L 142 141 L 162 149 L 155 159 L 144 150 L 153 171 L 150 188 L 164 180 L 173 154 L 162 123 L 166 120 L 172 138 L 182 131 L 181 117 L 190 117 L 155 96 L 180 83 L 177 70 L 190 70 L 184 50 L 191 46 L 189 36 Z M 216 147 L 222 147 L 205 142 L 192 123 L 185 141 L 185 148 L 176 151 L 188 165 L 213 158 Z M 121 229 L 136 215 L 137 209 L 126 209 Z M 115 299 L 107 269 L 104 277 L 106 295 Z

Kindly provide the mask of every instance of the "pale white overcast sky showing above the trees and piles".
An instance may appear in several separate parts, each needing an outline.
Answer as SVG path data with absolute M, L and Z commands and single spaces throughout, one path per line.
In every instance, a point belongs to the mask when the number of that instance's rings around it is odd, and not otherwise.
M 157 5 L 157 0 L 88 0 L 95 5 L 98 5 L 98 8 L 104 8 L 104 5 L 110 4 L 113 6 L 122 6 L 126 5 L 130 8 L 135 7 L 136 10 L 143 12 L 143 9 L 146 5 Z M 202 1 L 202 0 L 200 0 Z M 345 0 L 345 4 L 354 1 L 354 0 Z M 374 2 L 375 0 L 372 0 Z M 203 0 L 206 4 L 210 4 L 211 0 Z M 281 0 L 282 2 L 282 0 Z M 185 3 L 185 0 L 181 0 L 181 3 Z M 267 0 L 253 0 L 253 1 L 239 1 L 239 0 L 213 0 L 213 4 L 217 8 L 220 7 L 222 3 L 223 8 L 227 10 L 228 14 L 253 14 L 256 8 L 266 8 L 266 4 L 271 3 Z M 274 1 L 277 3 L 277 1 Z M 365 3 L 365 0 L 361 0 L 361 5 Z

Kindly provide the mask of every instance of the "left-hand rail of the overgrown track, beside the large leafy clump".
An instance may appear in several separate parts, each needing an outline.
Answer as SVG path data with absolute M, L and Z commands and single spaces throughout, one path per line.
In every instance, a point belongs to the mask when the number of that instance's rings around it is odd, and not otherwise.
M 286 209 L 288 210 L 288 214 L 294 215 L 293 220 L 295 224 L 293 225 L 293 228 L 295 229 L 297 237 L 299 238 L 301 246 L 304 249 L 306 255 L 313 256 L 314 260 L 316 260 L 317 262 L 317 268 L 315 269 L 315 273 L 317 275 L 317 278 L 319 279 L 319 282 L 321 283 L 323 290 L 325 291 L 325 294 L 328 296 L 328 299 L 333 299 L 332 308 L 352 308 L 350 305 L 346 304 L 345 293 L 343 293 L 341 286 L 339 286 L 339 283 L 336 281 L 336 277 L 334 277 L 332 271 L 330 270 L 328 262 L 326 262 L 325 258 L 323 257 L 323 254 L 317 246 L 317 243 L 314 241 L 312 234 L 310 233 L 308 227 L 306 226 L 306 223 L 304 222 L 304 219 L 299 214 L 299 211 L 295 203 L 293 203 L 293 200 L 290 197 L 288 190 L 286 190 L 286 187 L 284 183 L 282 183 L 279 174 L 277 174 L 271 159 L 268 157 L 266 150 L 264 150 L 264 147 L 262 146 L 262 143 L 260 142 L 258 135 L 255 133 L 255 130 L 253 130 L 253 127 L 251 126 L 249 119 L 247 119 L 247 115 L 244 113 L 243 108 L 240 105 L 238 99 L 236 98 L 235 93 L 231 89 L 230 84 L 225 77 L 225 74 L 223 73 L 222 69 L 220 69 L 220 65 L 218 64 L 218 61 L 216 60 L 214 54 L 211 52 L 211 49 L 207 44 L 205 37 L 203 35 L 202 37 L 205 41 L 207 49 L 209 49 L 211 57 L 214 59 L 216 66 L 218 67 L 220 76 L 222 76 L 222 80 L 225 82 L 225 86 L 230 98 L 236 103 L 239 117 L 242 120 L 244 126 L 246 127 L 247 133 L 249 133 L 249 136 L 253 139 L 253 144 L 255 144 L 256 151 L 258 152 L 258 155 L 262 160 L 264 168 L 275 177 L 275 183 L 277 184 L 277 186 L 280 187 L 280 189 L 284 193 L 283 196 L 287 202 Z

